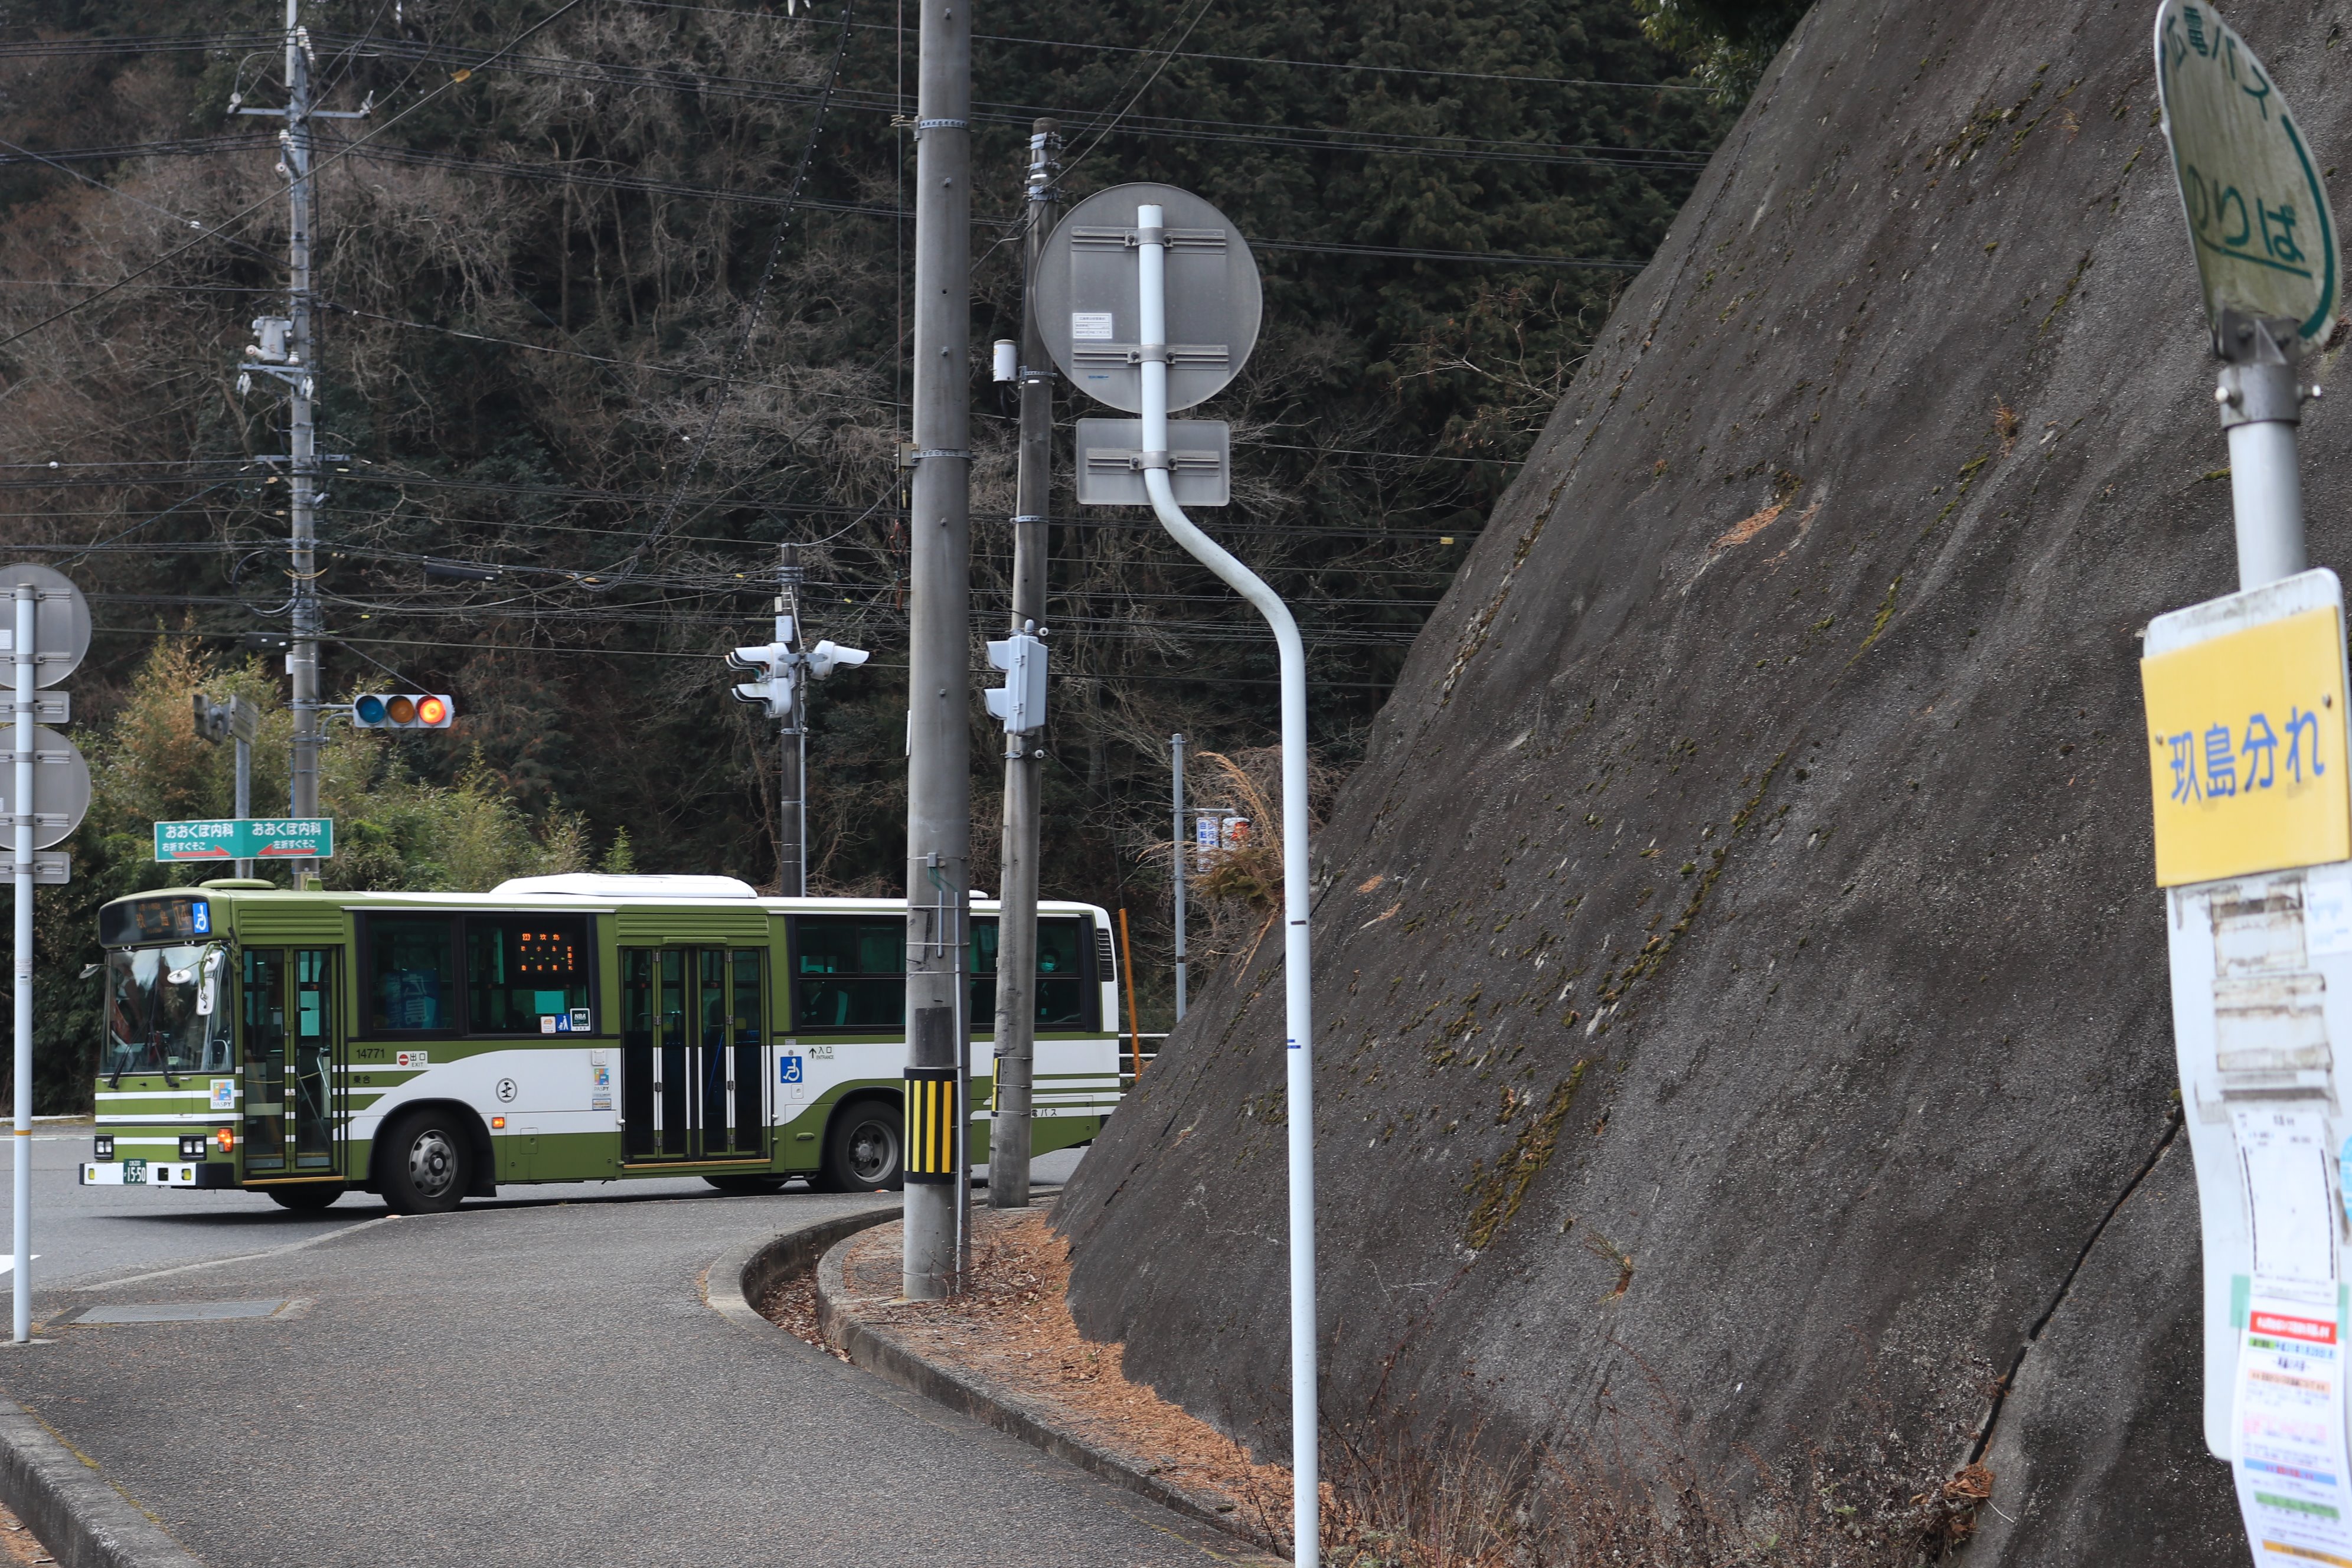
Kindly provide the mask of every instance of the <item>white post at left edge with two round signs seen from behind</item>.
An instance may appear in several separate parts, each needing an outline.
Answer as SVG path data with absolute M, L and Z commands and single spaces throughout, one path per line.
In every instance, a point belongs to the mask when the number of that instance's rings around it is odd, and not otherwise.
M 16 1009 L 14 1009 L 14 1342 L 33 1338 L 33 886 L 68 877 L 66 858 L 47 865 L 35 851 L 49 849 L 82 825 L 89 811 L 89 764 L 82 752 L 38 717 L 71 717 L 71 705 L 40 696 L 42 686 L 73 675 L 89 651 L 89 604 L 82 590 L 47 567 L 19 562 L 0 571 L 9 585 L 12 618 L 5 646 L 14 672 L 9 715 L 16 719 L 12 776 L 7 788 L 9 879 L 16 917 Z

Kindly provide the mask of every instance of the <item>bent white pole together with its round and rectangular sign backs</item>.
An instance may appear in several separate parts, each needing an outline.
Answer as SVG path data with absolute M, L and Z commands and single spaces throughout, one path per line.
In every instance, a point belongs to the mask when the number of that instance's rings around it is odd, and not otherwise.
M 1054 230 L 1035 282 L 1047 353 L 1134 421 L 1080 421 L 1080 505 L 1150 505 L 1265 616 L 1282 661 L 1282 987 L 1291 1185 L 1291 1556 L 1322 1554 L 1315 1401 L 1315 978 L 1308 969 L 1308 656 L 1289 604 L 1190 517 L 1230 494 L 1232 433 L 1169 421 L 1221 393 L 1258 343 L 1258 263 L 1235 223 L 1176 186 L 1096 190 Z

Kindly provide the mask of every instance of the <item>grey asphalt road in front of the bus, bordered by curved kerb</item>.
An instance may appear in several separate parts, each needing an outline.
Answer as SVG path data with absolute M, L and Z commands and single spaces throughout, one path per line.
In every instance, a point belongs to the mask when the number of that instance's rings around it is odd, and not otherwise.
M 54 1201 L 80 1147 L 35 1147 L 38 1251 L 56 1260 L 35 1274 L 49 1342 L 0 1347 L 0 1392 L 205 1561 L 1157 1568 L 1247 1556 L 703 1302 L 720 1255 L 884 1199 L 597 1185 L 430 1218 L 386 1218 L 360 1199 L 325 1218 L 242 1194 Z M 202 1302 L 287 1305 L 221 1321 L 78 1321 Z

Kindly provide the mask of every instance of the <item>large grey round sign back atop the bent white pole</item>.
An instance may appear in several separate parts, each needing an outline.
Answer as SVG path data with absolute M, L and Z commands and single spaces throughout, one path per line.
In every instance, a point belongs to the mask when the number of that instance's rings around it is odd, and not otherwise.
M 1070 383 L 1124 414 L 1143 411 L 1136 355 L 1136 207 L 1167 233 L 1169 411 L 1225 390 L 1258 346 L 1258 261 L 1232 221 L 1176 186 L 1112 186 L 1073 207 L 1044 244 L 1030 303 Z

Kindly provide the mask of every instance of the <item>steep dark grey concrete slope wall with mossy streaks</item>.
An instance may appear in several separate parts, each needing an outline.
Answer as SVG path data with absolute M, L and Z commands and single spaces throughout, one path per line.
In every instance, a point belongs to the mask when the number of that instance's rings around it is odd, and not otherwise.
M 1423 632 L 1315 851 L 1336 1418 L 1983 1450 L 1983 1561 L 2239 1561 L 2138 717 L 2138 628 L 2234 588 L 2152 9 L 1816 5 Z M 2234 21 L 2352 165 L 2352 7 Z M 1275 1443 L 1282 1039 L 1270 933 L 1058 1211 L 1080 1324 Z

